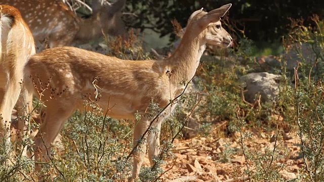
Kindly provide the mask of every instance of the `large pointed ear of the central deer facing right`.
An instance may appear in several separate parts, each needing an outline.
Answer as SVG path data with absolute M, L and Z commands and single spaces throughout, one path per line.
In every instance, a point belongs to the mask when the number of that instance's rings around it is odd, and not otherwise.
M 218 22 L 219 20 L 221 20 L 221 17 L 223 17 L 227 13 L 231 6 L 232 4 L 227 4 L 220 8 L 210 11 L 198 20 L 199 25 L 201 27 L 206 28 L 210 23 Z

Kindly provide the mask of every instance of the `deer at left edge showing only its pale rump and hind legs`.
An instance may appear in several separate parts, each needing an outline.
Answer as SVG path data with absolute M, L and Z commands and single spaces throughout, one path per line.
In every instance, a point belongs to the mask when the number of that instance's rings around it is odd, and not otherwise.
M 9 145 L 11 113 L 17 101 L 19 115 L 24 116 L 26 109 L 32 109 L 31 93 L 20 82 L 23 81 L 25 63 L 35 53 L 35 46 L 32 34 L 19 11 L 8 5 L 0 5 L 0 40 L 0 135 L 5 136 Z M 20 93 L 22 97 L 18 100 Z M 28 135 L 27 124 L 27 120 L 18 119 L 21 136 Z M 6 152 L 9 152 L 9 148 L 7 146 Z M 26 147 L 22 150 L 23 155 L 26 155 Z

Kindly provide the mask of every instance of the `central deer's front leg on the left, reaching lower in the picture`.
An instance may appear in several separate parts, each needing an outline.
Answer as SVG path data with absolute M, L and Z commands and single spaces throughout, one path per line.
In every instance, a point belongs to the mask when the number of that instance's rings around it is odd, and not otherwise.
M 144 132 L 147 130 L 148 127 L 148 121 L 139 121 L 135 128 L 134 128 L 134 137 L 133 137 L 133 143 L 134 143 L 134 164 L 133 164 L 133 175 L 132 179 L 130 181 L 133 181 L 133 179 L 138 178 L 138 175 L 140 173 L 140 169 L 144 160 L 144 156 L 146 153 L 146 145 L 147 145 L 147 136 L 144 136 L 143 139 L 142 136 Z

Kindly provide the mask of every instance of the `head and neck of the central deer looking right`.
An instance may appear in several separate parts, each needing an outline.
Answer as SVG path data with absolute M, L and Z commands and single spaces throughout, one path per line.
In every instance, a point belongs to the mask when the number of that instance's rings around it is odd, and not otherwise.
M 171 70 L 175 73 L 172 79 L 174 84 L 179 84 L 181 80 L 190 80 L 194 76 L 206 43 L 221 48 L 228 48 L 232 44 L 232 37 L 222 28 L 220 22 L 230 7 L 231 4 L 228 4 L 209 13 L 201 9 L 191 14 L 177 49 L 166 59 L 167 62 L 177 61 L 183 65 Z

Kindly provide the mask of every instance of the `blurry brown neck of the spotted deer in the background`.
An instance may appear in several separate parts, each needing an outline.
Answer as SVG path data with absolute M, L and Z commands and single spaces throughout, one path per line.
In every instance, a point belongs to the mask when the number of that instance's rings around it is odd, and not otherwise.
M 91 39 L 98 38 L 102 35 L 100 17 L 91 16 L 88 19 L 79 19 L 80 29 L 76 34 L 75 41 L 89 42 Z

